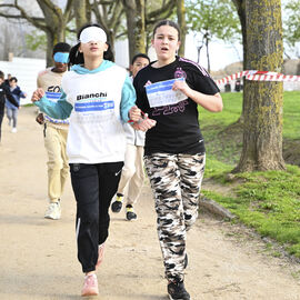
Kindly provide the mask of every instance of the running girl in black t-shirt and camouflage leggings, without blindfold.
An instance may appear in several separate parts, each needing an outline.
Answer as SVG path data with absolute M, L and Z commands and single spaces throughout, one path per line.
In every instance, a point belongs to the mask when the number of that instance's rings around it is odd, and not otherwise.
M 134 127 L 148 129 L 144 163 L 156 199 L 168 293 L 170 299 L 184 300 L 190 299 L 183 284 L 187 231 L 198 217 L 206 163 L 197 107 L 221 111 L 222 98 L 202 67 L 176 56 L 180 46 L 177 23 L 160 21 L 152 46 L 158 60 L 133 80 L 137 106 L 148 119 Z

